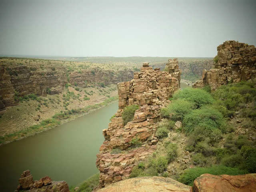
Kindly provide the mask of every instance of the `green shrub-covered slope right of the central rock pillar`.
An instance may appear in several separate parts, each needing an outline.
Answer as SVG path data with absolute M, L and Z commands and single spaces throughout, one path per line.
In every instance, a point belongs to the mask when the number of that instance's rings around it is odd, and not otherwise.
M 256 83 L 240 82 L 176 92 L 156 132 L 162 142 L 131 177 L 172 177 L 192 185 L 203 173 L 256 172 Z M 176 121 L 182 122 L 180 128 Z

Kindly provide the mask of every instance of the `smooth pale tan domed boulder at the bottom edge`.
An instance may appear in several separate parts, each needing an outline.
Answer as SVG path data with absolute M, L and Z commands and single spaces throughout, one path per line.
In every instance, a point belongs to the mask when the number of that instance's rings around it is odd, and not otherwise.
M 177 182 L 171 178 L 164 177 L 139 177 L 120 181 L 105 188 L 98 190 L 98 192 L 192 192 L 190 186 Z

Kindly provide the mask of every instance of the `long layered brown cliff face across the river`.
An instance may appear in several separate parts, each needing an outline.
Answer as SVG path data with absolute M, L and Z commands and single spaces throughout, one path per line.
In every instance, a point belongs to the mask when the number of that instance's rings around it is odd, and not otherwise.
M 18 97 L 28 94 L 46 96 L 61 93 L 65 84 L 116 84 L 132 79 L 132 70 L 103 70 L 99 68 L 69 71 L 65 63 L 36 60 L 19 63 L 2 59 L 0 64 L 0 110 L 18 104 Z M 15 100 L 16 98 L 16 100 Z

